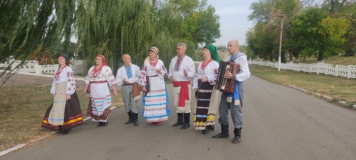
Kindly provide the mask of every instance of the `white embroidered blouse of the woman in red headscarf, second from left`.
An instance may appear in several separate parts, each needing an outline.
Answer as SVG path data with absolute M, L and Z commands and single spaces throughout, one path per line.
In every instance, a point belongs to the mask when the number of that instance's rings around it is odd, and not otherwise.
M 110 86 L 116 85 L 116 79 L 108 66 L 103 66 L 103 68 L 98 72 L 97 77 L 93 77 L 94 67 L 89 69 L 88 74 L 86 75 L 84 82 L 89 84 L 94 81 L 107 81 Z

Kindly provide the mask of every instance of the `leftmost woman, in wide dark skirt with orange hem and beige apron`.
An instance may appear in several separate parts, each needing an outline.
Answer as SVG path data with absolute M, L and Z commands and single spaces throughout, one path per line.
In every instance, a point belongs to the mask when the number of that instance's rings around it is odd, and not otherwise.
M 54 74 L 50 91 L 54 94 L 53 103 L 48 107 L 41 126 L 66 135 L 73 127 L 82 124 L 82 116 L 68 56 L 61 54 L 58 63 L 60 66 Z

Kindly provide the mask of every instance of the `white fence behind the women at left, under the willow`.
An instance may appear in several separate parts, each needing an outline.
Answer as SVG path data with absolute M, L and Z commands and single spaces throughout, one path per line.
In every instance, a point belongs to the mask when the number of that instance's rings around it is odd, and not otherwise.
M 9 67 L 11 65 L 11 70 L 16 69 L 20 65 L 21 60 L 9 60 L 4 63 L 0 63 L 0 68 Z M 73 65 L 69 65 L 72 68 L 74 74 L 82 73 L 82 63 L 83 60 L 73 60 Z M 26 60 L 25 64 L 19 68 L 21 72 L 32 72 L 37 74 L 54 74 L 58 69 L 58 65 L 38 65 L 36 60 Z

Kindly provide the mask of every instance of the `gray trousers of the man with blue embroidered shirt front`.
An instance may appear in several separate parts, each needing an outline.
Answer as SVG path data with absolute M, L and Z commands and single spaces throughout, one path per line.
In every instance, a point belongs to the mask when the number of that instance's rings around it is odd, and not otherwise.
M 132 85 L 123 85 L 121 87 L 123 93 L 123 101 L 125 104 L 126 113 L 138 113 L 138 105 L 137 101 L 134 101 L 133 93 L 132 93 Z

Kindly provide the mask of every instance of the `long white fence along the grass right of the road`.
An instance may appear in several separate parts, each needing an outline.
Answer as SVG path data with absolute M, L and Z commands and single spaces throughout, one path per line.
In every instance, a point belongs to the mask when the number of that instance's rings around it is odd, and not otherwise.
M 268 61 L 249 61 L 249 64 L 259 65 L 259 66 L 268 66 L 273 68 L 278 68 L 278 62 L 268 62 Z M 281 63 L 282 70 L 293 70 L 293 71 L 302 71 L 309 73 L 323 73 L 325 75 L 340 76 L 346 78 L 356 78 L 356 66 L 348 65 L 330 65 L 327 63 Z

